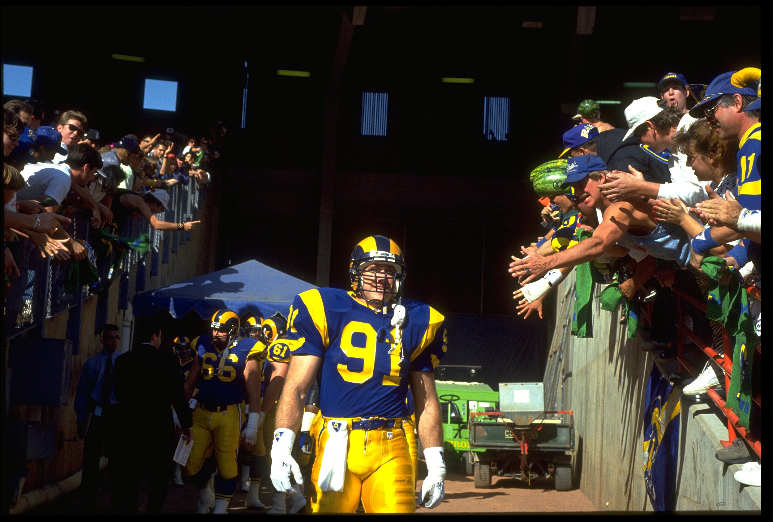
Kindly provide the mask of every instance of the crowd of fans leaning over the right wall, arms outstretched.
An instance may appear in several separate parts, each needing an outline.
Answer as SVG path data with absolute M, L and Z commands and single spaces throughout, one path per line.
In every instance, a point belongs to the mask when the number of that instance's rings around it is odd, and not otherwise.
M 509 268 L 522 285 L 514 292 L 519 315 L 541 317 L 547 292 L 577 267 L 572 333 L 581 337 L 593 335 L 593 282 L 608 285 L 598 296 L 601 308 L 623 303 L 628 336 L 638 329 L 647 341 L 642 349 L 676 382 L 683 341 L 672 287 L 702 294 L 707 313 L 683 309 L 683 322 L 712 339 L 717 355 L 706 360 L 696 350 L 705 365 L 696 378 L 681 380 L 683 394 L 724 388 L 729 358 L 727 408 L 747 430 L 761 339 L 760 84 L 761 70 L 751 67 L 709 85 L 669 72 L 657 84 L 659 97 L 625 107 L 627 129 L 604 123 L 598 104 L 583 101 L 559 159 L 531 173 L 550 230 L 512 256 Z M 644 302 L 654 302 L 649 321 Z M 723 462 L 746 462 L 737 481 L 760 486 L 761 464 L 752 456 L 741 437 L 717 452 Z

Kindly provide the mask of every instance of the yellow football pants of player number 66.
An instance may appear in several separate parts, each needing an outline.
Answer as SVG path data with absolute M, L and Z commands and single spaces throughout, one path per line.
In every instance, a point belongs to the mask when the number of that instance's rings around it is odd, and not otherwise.
M 225 411 L 193 411 L 193 447 L 188 457 L 186 474 L 198 473 L 204 459 L 215 452 L 217 472 L 223 479 L 237 476 L 237 449 L 243 421 L 241 404 L 231 404 Z

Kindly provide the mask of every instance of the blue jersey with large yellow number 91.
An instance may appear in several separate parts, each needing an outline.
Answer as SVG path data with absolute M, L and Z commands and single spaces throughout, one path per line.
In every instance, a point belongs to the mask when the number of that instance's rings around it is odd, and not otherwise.
M 394 346 L 392 309 L 376 311 L 352 292 L 315 288 L 290 309 L 291 355 L 322 357 L 319 407 L 332 418 L 402 417 L 409 371 L 431 372 L 446 351 L 444 317 L 424 303 L 403 300 L 402 346 Z M 394 348 L 393 348 L 394 346 Z

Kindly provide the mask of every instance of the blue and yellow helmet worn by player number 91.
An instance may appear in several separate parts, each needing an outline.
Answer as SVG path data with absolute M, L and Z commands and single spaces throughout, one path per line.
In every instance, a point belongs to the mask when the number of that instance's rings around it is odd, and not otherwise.
M 392 271 L 367 270 L 373 264 L 386 264 Z M 372 305 L 384 306 L 386 303 L 403 297 L 403 281 L 407 275 L 407 265 L 397 243 L 389 237 L 370 236 L 360 241 L 349 259 L 349 281 L 355 294 Z M 378 291 L 373 284 L 384 278 L 393 278 L 391 292 Z M 366 287 L 373 288 L 366 290 Z M 365 294 L 380 294 L 381 299 L 369 299 Z

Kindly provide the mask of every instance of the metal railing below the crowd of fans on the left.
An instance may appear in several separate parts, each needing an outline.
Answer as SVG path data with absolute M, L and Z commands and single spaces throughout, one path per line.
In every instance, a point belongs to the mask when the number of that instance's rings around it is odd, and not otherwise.
M 179 223 L 196 217 L 199 206 L 206 199 L 206 189 L 206 186 L 199 186 L 193 179 L 187 186 L 176 184 L 170 187 L 168 192 L 172 210 L 157 214 L 158 219 Z M 90 226 L 90 211 L 76 212 L 68 217 L 72 219 L 72 223 L 67 225 L 66 230 L 72 237 L 86 241 L 92 247 L 101 241 Z M 21 275 L 15 278 L 10 288 L 5 291 L 5 339 L 12 339 L 29 329 L 42 326 L 46 319 L 80 305 L 107 288 L 108 281 L 117 280 L 121 281 L 121 284 L 128 285 L 128 278 L 121 278 L 121 276 L 128 273 L 135 264 L 148 262 L 152 268 L 151 275 L 158 274 L 160 264 L 169 262 L 169 256 L 162 255 L 160 250 L 162 248 L 169 250 L 171 247 L 172 253 L 175 253 L 179 245 L 185 244 L 192 237 L 191 232 L 175 230 L 170 234 L 155 230 L 143 217 L 128 219 L 124 230 L 119 230 L 117 236 L 134 238 L 142 232 L 148 233 L 150 244 L 148 254 L 143 256 L 137 251 L 128 250 L 117 267 L 113 266 L 117 251 L 115 245 L 108 255 L 100 255 L 100 248 L 95 247 L 100 281 L 95 285 L 80 285 L 75 294 L 67 292 L 64 288 L 70 277 L 70 263 L 73 260 L 60 262 L 50 257 L 43 258 L 31 241 L 26 237 L 20 237 L 17 261 Z M 172 241 L 169 241 L 170 239 Z M 137 279 L 136 289 L 144 290 L 145 271 L 141 271 L 141 274 L 138 272 Z M 122 288 L 122 290 L 125 291 L 128 288 Z M 121 299 L 119 299 L 120 305 Z

